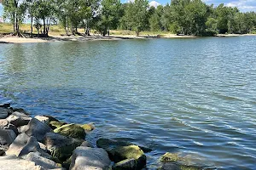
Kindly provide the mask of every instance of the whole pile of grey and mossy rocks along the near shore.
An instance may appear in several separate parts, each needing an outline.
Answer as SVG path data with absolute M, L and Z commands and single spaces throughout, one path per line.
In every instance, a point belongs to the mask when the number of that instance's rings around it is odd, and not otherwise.
M 85 140 L 92 124 L 60 122 L 53 116 L 30 116 L 23 109 L 0 105 L 0 169 L 140 170 L 151 149 L 128 141 Z M 202 169 L 177 163 L 178 156 L 160 157 L 161 170 Z

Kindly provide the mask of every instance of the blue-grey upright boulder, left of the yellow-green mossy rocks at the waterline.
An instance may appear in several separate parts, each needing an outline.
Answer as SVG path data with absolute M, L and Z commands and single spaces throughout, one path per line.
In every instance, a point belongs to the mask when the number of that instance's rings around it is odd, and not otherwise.
M 44 135 L 52 131 L 52 129 L 44 124 L 44 122 L 38 121 L 38 119 L 33 118 L 27 125 L 28 129 L 26 130 L 26 134 L 28 136 L 34 136 L 38 141 L 42 141 L 44 139 Z

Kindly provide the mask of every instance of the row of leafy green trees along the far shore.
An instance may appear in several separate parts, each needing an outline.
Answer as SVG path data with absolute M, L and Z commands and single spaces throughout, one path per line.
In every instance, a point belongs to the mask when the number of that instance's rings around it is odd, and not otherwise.
M 170 31 L 175 34 L 214 36 L 218 33 L 256 32 L 256 13 L 242 13 L 238 8 L 207 5 L 201 0 L 172 0 L 165 6 L 149 7 L 147 0 L 120 3 L 119 0 L 0 0 L 4 19 L 20 34 L 20 24 L 27 19 L 38 35 L 47 37 L 49 26 L 61 25 L 68 34 L 90 36 L 90 29 L 103 36 L 109 30 Z

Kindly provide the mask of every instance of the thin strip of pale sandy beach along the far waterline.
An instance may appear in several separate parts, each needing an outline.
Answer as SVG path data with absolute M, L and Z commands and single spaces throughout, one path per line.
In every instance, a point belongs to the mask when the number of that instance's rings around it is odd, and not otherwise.
M 241 36 L 256 36 L 256 34 L 218 34 L 216 37 L 241 37 Z M 135 37 L 132 35 L 114 35 L 109 37 L 102 36 L 50 36 L 50 37 L 0 37 L 0 43 L 33 43 L 33 42 L 61 42 L 61 41 L 92 41 L 92 40 L 120 40 L 120 39 L 147 39 L 158 38 L 157 36 L 142 35 Z M 161 38 L 196 38 L 195 36 L 177 36 L 176 34 L 166 34 Z

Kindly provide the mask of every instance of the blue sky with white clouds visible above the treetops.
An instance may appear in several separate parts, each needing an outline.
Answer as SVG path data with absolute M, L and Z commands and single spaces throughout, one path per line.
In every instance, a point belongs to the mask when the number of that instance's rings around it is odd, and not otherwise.
M 121 0 L 122 3 L 125 3 L 127 0 Z M 153 1 L 153 3 L 152 3 Z M 155 1 L 155 2 L 154 2 Z M 202 0 L 207 4 L 214 4 L 218 5 L 220 3 L 224 3 L 226 6 L 230 7 L 237 7 L 242 12 L 247 11 L 255 11 L 256 12 L 256 0 Z M 166 3 L 170 3 L 170 0 L 149 0 L 149 3 L 151 4 L 157 4 L 160 3 L 162 5 L 165 5 Z M 0 16 L 3 14 L 3 6 L 0 4 Z

